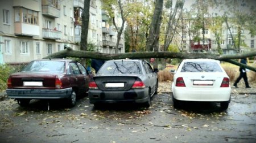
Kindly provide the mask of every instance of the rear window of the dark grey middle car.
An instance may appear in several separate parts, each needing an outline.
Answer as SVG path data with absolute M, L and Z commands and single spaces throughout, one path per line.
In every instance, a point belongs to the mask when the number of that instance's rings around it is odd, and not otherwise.
M 141 66 L 135 61 L 115 61 L 106 62 L 98 71 L 99 74 L 141 74 Z

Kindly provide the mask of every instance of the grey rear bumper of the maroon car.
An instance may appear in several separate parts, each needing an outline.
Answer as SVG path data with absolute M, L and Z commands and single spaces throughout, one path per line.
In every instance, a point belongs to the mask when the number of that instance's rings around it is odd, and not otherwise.
M 6 89 L 9 98 L 60 99 L 68 98 L 72 88 L 65 89 Z

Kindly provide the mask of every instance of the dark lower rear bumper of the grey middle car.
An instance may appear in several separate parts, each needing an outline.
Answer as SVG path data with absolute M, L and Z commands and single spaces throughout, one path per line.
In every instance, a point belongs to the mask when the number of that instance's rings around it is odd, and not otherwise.
M 127 91 L 102 91 L 98 89 L 89 89 L 88 96 L 90 103 L 144 103 L 148 101 L 148 90 L 132 89 Z

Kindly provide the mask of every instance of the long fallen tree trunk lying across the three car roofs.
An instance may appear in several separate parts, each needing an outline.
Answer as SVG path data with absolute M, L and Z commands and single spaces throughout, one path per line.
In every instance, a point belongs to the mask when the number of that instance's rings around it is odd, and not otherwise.
M 208 59 L 216 59 L 225 62 L 229 62 L 235 64 L 237 66 L 247 68 L 251 71 L 256 72 L 255 67 L 251 67 L 242 63 L 237 62 L 233 59 L 242 59 L 247 57 L 256 56 L 256 50 L 250 51 L 249 53 L 242 54 L 230 54 L 230 55 L 217 55 L 210 53 L 174 53 L 168 51 L 155 51 L 155 52 L 133 52 L 133 53 L 121 53 L 121 54 L 105 54 L 105 53 L 96 53 L 94 51 L 80 51 L 80 50 L 72 50 L 71 48 L 67 48 L 62 51 L 58 51 L 44 59 L 48 58 L 67 58 L 67 57 L 76 57 L 76 58 L 88 58 L 88 59 L 102 59 L 102 60 L 110 60 L 110 59 L 148 59 L 148 58 L 177 58 L 177 59 L 199 59 L 199 58 L 208 58 Z

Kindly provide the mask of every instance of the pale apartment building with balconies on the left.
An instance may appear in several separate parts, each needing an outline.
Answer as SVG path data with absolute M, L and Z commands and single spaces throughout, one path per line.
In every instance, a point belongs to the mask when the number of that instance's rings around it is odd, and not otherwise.
M 27 63 L 65 47 L 79 50 L 83 9 L 84 0 L 0 1 L 0 63 Z M 102 34 L 101 1 L 91 0 L 88 42 L 108 53 Z

